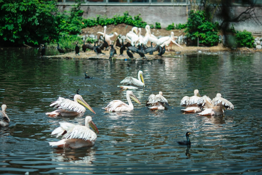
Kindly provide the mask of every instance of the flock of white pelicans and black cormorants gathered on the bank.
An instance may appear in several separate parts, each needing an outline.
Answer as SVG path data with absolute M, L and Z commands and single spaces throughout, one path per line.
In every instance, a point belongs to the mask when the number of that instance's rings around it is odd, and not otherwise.
M 145 26 L 145 35 L 141 35 L 141 28 L 133 27 L 131 31 L 129 31 L 126 35 L 119 35 L 117 32 L 108 35 L 106 33 L 107 26 L 104 26 L 103 32 L 97 32 L 97 45 L 91 45 L 90 43 L 85 43 L 85 38 L 83 40 L 84 44 L 82 46 L 82 50 L 85 52 L 87 49 L 94 50 L 98 55 L 104 54 L 102 51 L 107 50 L 109 46 L 111 46 L 109 52 L 109 59 L 113 58 L 115 54 L 117 54 L 115 46 L 120 48 L 120 54 L 123 55 L 123 51 L 126 50 L 127 55 L 130 58 L 134 58 L 133 54 L 137 53 L 140 57 L 145 58 L 145 54 L 153 55 L 153 52 L 158 51 L 158 56 L 162 56 L 165 51 L 166 47 L 172 47 L 173 44 L 178 45 L 179 47 L 183 48 L 176 42 L 177 36 L 174 36 L 174 32 L 171 31 L 170 36 L 163 36 L 157 37 L 151 34 L 150 26 Z M 124 44 L 125 42 L 125 44 Z M 151 43 L 151 46 L 148 47 L 147 44 Z M 78 42 L 75 43 L 75 54 L 79 55 L 80 46 L 78 46 Z M 154 46 L 153 46 L 154 45 Z M 41 44 L 41 56 L 45 55 L 45 45 Z M 57 43 L 57 50 L 60 54 L 64 54 L 65 51 L 59 47 Z

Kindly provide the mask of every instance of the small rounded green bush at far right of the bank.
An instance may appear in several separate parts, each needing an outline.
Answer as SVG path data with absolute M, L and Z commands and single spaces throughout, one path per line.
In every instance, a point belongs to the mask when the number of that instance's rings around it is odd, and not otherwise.
M 237 31 L 235 35 L 236 45 L 237 47 L 249 47 L 251 48 L 254 43 L 254 37 L 251 32 L 246 30 Z

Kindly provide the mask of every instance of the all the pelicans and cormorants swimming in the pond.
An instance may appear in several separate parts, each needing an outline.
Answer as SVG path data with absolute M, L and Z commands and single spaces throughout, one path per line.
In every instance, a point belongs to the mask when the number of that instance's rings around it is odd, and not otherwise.
M 85 74 L 86 75 L 86 74 Z M 87 75 L 85 78 L 88 78 Z M 89 77 L 92 78 L 92 77 Z M 128 104 L 122 102 L 121 100 L 113 100 L 108 103 L 105 108 L 108 112 L 117 111 L 132 111 L 134 106 L 131 99 L 133 99 L 138 104 L 141 104 L 137 97 L 133 94 L 132 89 L 138 89 L 145 86 L 143 72 L 138 72 L 138 79 L 133 77 L 126 77 L 123 81 L 123 86 L 118 86 L 122 89 L 129 89 L 126 91 L 126 98 Z M 125 86 L 127 85 L 127 86 Z M 79 91 L 79 89 L 78 89 Z M 55 116 L 75 116 L 78 114 L 84 114 L 86 108 L 91 112 L 94 110 L 85 102 L 81 95 L 74 95 L 74 101 L 59 97 L 56 101 L 50 104 L 51 107 L 56 108 L 53 112 L 48 112 L 46 115 Z M 222 115 L 224 114 L 224 109 L 233 110 L 234 106 L 231 102 L 221 97 L 220 93 L 216 94 L 216 97 L 212 100 L 208 96 L 201 97 L 197 89 L 194 90 L 194 96 L 185 96 L 181 99 L 181 106 L 185 107 L 183 110 L 185 113 L 198 113 L 199 115 L 212 116 L 212 115 Z M 164 110 L 168 109 L 168 101 L 163 97 L 163 93 L 151 94 L 146 102 L 146 106 L 151 110 Z M 86 108 L 85 108 L 86 107 Z M 2 104 L 2 111 L 0 110 L 0 126 L 5 127 L 9 125 L 10 119 L 6 114 L 7 106 Z M 203 110 L 203 111 L 202 111 Z M 75 125 L 68 122 L 59 122 L 60 126 L 52 131 L 52 135 L 57 135 L 56 137 L 62 136 L 63 139 L 57 142 L 49 142 L 51 146 L 57 146 L 60 148 L 79 148 L 92 146 L 95 144 L 97 135 L 95 132 L 99 133 L 96 125 L 93 123 L 91 116 L 85 117 L 85 125 Z M 91 126 L 93 130 L 89 128 Z M 189 140 L 190 132 L 186 133 L 187 141 L 178 142 L 179 144 L 190 145 Z

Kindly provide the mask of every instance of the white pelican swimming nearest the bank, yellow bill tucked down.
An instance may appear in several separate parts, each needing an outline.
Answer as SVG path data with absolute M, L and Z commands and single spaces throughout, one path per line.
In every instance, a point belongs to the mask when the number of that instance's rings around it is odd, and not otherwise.
M 120 83 L 127 84 L 127 86 L 117 86 L 121 89 L 138 89 L 141 87 L 145 87 L 143 71 L 138 71 L 137 74 L 138 79 L 133 77 L 125 77 Z

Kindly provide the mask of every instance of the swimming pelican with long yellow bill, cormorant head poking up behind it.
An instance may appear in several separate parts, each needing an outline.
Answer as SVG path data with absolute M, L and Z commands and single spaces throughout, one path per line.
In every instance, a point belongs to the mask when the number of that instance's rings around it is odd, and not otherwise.
M 83 107 L 81 104 L 95 113 L 94 110 L 85 102 L 82 96 L 75 94 L 74 101 L 59 97 L 55 102 L 52 102 L 50 106 L 58 109 L 53 112 L 48 112 L 46 115 L 54 117 L 58 115 L 74 116 L 78 114 L 84 114 L 85 107 Z

